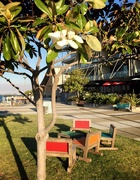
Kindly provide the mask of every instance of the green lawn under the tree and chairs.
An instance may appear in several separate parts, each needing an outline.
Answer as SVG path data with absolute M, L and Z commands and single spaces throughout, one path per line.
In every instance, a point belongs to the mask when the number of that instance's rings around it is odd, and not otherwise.
M 0 180 L 36 179 L 36 118 L 0 117 Z M 46 124 L 49 121 L 46 116 Z M 50 136 L 71 125 L 58 119 Z M 77 161 L 71 174 L 66 172 L 67 159 L 47 157 L 47 180 L 140 180 L 140 142 L 117 135 L 115 146 L 119 150 L 103 151 L 103 156 L 89 153 L 92 162 Z

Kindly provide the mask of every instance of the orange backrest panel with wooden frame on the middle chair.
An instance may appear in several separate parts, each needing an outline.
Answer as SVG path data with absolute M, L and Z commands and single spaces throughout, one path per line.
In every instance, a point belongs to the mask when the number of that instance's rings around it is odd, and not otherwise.
M 85 147 L 92 148 L 100 144 L 101 132 L 88 133 L 86 137 Z

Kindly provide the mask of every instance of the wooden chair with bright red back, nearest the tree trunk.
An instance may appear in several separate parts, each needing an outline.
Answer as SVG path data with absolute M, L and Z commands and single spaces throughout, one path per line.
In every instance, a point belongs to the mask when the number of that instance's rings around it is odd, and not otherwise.
M 76 162 L 76 146 L 72 144 L 71 139 L 48 138 L 46 142 L 46 156 L 67 157 L 67 172 L 70 173 Z

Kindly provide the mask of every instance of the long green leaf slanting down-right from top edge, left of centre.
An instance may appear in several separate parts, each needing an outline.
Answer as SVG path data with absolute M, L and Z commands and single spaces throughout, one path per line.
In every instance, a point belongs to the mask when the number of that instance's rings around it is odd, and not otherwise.
M 52 13 L 50 12 L 48 7 L 41 0 L 34 0 L 34 3 L 42 12 L 46 13 L 49 16 L 49 18 L 51 20 L 53 20 Z

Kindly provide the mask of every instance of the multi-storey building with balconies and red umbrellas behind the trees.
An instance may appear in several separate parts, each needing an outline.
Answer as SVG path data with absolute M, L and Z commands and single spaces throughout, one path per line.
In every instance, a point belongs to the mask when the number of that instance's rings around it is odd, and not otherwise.
M 72 55 L 64 61 L 69 64 L 77 56 Z M 140 54 L 107 57 L 104 52 L 96 53 L 91 63 L 77 64 L 65 71 L 81 68 L 85 70 L 90 82 L 88 90 L 101 93 L 140 93 Z

